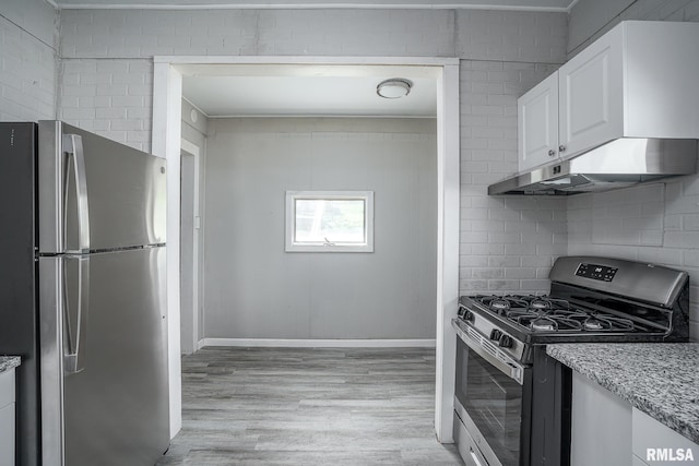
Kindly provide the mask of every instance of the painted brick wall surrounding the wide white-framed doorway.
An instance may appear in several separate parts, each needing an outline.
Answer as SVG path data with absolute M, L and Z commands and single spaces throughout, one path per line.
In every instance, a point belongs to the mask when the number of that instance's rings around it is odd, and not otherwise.
M 543 292 L 565 200 L 494 199 L 517 169 L 517 98 L 565 61 L 567 16 L 467 10 L 63 11 L 63 119 L 145 151 L 154 55 L 459 57 L 460 290 Z M 92 123 L 91 123 L 92 122 Z

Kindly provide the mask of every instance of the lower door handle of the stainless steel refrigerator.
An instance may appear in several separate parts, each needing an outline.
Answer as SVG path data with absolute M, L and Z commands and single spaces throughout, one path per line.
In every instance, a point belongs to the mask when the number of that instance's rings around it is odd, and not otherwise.
M 69 290 L 63 270 L 63 372 L 78 373 L 85 369 L 87 315 L 90 314 L 90 256 L 66 255 L 63 267 L 78 261 L 76 289 Z M 73 292 L 76 291 L 76 292 Z M 71 302 L 74 301 L 74 302 Z

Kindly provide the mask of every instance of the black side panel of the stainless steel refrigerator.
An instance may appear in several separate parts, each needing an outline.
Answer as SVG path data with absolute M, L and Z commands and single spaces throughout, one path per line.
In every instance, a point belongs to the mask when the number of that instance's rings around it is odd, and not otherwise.
M 39 445 L 36 306 L 36 123 L 0 122 L 0 355 L 16 368 L 17 464 L 36 466 Z

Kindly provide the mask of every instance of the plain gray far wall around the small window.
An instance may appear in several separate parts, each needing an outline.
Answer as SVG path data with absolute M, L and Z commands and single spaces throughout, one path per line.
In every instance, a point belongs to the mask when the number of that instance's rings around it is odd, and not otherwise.
M 205 336 L 435 338 L 435 120 L 212 119 Z M 286 253 L 286 190 L 375 192 L 374 253 Z

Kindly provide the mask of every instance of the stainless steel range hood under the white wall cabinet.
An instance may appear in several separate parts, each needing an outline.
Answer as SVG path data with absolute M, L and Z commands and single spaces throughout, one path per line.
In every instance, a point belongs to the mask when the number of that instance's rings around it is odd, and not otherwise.
M 621 138 L 490 184 L 488 194 L 569 195 L 691 175 L 697 147 L 697 140 Z

